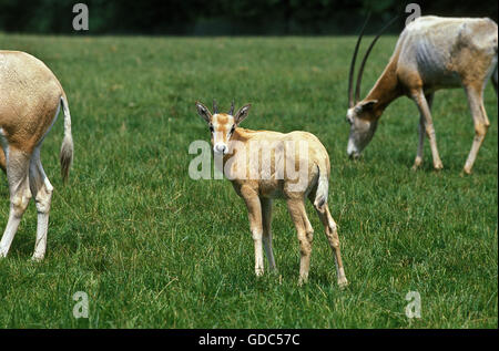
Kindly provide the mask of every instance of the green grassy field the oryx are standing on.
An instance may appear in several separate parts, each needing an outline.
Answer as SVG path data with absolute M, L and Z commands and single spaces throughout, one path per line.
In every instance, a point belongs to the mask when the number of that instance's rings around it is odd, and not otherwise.
M 368 42 L 368 41 L 367 41 Z M 396 38 L 380 39 L 364 93 Z M 0 48 L 43 60 L 68 93 L 75 158 L 59 176 L 62 120 L 42 159 L 55 187 L 48 255 L 30 257 L 31 204 L 0 261 L 0 328 L 497 328 L 498 121 L 471 176 L 461 176 L 473 127 L 462 90 L 440 91 L 434 121 L 445 169 L 411 172 L 417 109 L 400 99 L 381 117 L 364 158 L 346 156 L 348 64 L 354 38 L 84 38 L 0 33 Z M 367 44 L 364 45 L 364 48 Z M 0 82 L 1 84 L 1 82 Z M 227 180 L 193 180 L 195 140 L 208 141 L 194 101 L 223 110 L 252 103 L 244 126 L 317 135 L 329 152 L 329 205 L 350 282 L 336 285 L 322 226 L 309 283 L 298 287 L 298 242 L 284 203 L 273 233 L 278 275 L 254 276 L 246 209 Z M 9 211 L 0 186 L 0 223 Z M 265 262 L 266 264 L 266 262 Z M 73 318 L 77 291 L 88 319 Z M 421 318 L 405 314 L 407 292 Z

